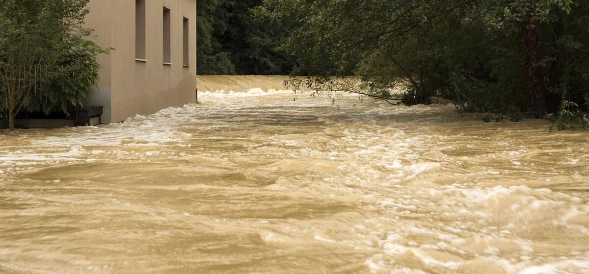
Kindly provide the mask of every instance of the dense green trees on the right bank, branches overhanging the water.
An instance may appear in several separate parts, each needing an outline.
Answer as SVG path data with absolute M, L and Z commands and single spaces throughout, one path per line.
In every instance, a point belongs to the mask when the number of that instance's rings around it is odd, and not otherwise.
M 284 44 L 296 85 L 460 111 L 587 111 L 589 3 L 574 0 L 265 0 L 261 18 L 299 22 Z M 333 78 L 357 76 L 363 85 Z M 578 117 L 578 115 L 576 115 Z

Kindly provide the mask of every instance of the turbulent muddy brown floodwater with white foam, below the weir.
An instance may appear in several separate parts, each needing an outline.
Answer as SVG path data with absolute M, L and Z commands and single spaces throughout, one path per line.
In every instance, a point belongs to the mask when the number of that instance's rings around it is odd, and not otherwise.
M 0 272 L 589 272 L 587 132 L 199 89 L 0 135 Z

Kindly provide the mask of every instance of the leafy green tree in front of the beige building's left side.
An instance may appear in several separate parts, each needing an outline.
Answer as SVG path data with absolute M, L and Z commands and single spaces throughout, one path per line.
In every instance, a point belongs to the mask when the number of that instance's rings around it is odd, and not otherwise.
M 88 0 L 0 0 L 0 112 L 60 109 L 82 104 L 98 81 L 95 56 L 105 52 L 85 39 Z

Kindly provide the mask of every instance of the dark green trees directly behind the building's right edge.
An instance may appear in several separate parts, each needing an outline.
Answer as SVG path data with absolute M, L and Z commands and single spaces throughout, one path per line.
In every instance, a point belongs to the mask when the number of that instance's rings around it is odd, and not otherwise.
M 261 0 L 197 1 L 197 73 L 284 75 L 292 55 L 280 49 L 291 25 L 255 20 Z

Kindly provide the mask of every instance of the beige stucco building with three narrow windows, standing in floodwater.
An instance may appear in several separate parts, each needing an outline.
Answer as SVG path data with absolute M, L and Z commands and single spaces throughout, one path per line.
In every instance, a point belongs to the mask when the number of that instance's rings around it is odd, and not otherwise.
M 101 55 L 100 83 L 87 106 L 102 123 L 196 102 L 196 0 L 90 0 L 91 38 Z

